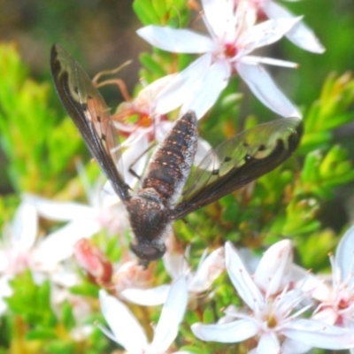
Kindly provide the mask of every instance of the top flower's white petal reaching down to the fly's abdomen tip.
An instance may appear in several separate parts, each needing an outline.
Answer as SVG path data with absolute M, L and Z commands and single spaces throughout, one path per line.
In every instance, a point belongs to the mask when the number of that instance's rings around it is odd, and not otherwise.
M 230 75 L 231 66 L 226 60 L 213 63 L 205 73 L 203 80 L 194 85 L 193 92 L 181 107 L 181 114 L 194 111 L 196 118 L 201 119 L 227 86 Z

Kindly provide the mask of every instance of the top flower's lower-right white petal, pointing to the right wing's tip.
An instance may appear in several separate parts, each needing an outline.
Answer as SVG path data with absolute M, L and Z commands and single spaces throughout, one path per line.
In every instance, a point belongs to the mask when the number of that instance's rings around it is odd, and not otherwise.
M 298 117 L 301 113 L 275 85 L 271 76 L 260 65 L 236 64 L 237 72 L 262 104 L 282 117 Z

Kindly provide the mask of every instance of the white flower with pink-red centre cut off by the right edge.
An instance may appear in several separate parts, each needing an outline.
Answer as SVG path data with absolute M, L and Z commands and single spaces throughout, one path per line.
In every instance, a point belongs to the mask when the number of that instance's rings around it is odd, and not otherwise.
M 313 318 L 354 329 L 354 227 L 342 236 L 331 256 L 332 286 L 319 283 L 312 296 L 320 301 Z

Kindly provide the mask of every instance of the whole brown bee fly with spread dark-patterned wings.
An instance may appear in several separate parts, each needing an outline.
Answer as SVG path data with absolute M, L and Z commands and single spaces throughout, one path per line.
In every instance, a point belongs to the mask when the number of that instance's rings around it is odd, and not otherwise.
M 66 111 L 125 204 L 135 238 L 131 249 L 145 268 L 165 253 L 165 235 L 174 220 L 212 203 L 281 165 L 302 135 L 297 118 L 259 125 L 222 142 L 193 167 L 198 140 L 194 112 L 177 119 L 153 154 L 132 194 L 117 167 L 116 129 L 103 97 L 89 76 L 59 44 L 51 50 L 51 73 Z

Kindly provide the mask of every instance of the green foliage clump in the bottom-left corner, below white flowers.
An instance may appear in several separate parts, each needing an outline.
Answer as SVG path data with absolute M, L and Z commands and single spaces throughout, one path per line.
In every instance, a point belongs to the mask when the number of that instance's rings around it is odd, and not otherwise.
M 6 298 L 10 318 L 7 335 L 12 338 L 10 345 L 14 352 L 80 354 L 102 352 L 106 347 L 106 340 L 100 331 L 97 336 L 96 329 L 87 337 L 87 343 L 73 340 L 71 332 L 78 325 L 73 315 L 73 304 L 64 300 L 56 305 L 58 308 L 54 311 L 50 281 L 36 284 L 33 274 L 26 271 L 12 279 L 11 287 L 13 295 Z M 101 317 L 99 319 L 102 320 Z M 89 323 L 94 321 L 90 319 Z M 19 348 L 26 351 L 16 351 Z

